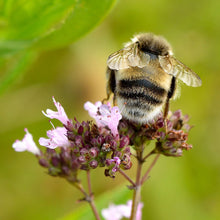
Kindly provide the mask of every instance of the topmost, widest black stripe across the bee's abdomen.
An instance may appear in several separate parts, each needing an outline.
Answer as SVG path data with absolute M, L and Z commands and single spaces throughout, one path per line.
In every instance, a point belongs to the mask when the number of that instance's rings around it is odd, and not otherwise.
M 165 89 L 155 85 L 154 83 L 146 80 L 146 79 L 134 79 L 134 80 L 121 80 L 119 86 L 123 89 L 123 88 L 146 88 L 149 89 L 152 93 L 156 94 L 156 95 L 160 95 L 163 96 L 166 91 Z

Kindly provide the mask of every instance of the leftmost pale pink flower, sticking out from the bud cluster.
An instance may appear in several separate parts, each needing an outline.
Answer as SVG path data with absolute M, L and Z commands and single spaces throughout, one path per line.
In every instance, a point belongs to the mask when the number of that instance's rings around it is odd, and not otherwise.
M 29 151 L 35 155 L 40 155 L 40 150 L 33 140 L 33 136 L 28 132 L 27 128 L 24 129 L 26 132 L 22 141 L 16 140 L 12 147 L 17 152 Z

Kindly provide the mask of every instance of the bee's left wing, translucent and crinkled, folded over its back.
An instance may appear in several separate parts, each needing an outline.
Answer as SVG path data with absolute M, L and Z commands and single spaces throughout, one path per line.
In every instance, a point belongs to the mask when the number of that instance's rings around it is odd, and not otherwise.
M 150 61 L 150 56 L 139 51 L 137 43 L 111 54 L 107 60 L 110 69 L 120 70 L 129 67 L 144 67 Z

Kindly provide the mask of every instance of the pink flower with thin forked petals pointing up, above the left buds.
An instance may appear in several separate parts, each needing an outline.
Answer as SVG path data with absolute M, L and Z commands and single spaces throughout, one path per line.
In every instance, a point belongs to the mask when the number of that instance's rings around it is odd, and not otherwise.
M 66 112 L 64 111 L 64 108 L 62 107 L 62 105 L 59 102 L 56 102 L 55 98 L 53 97 L 53 102 L 54 105 L 57 108 L 57 112 L 52 111 L 50 109 L 46 110 L 46 113 L 44 111 L 42 111 L 42 113 L 50 118 L 50 119 L 58 119 L 61 123 L 63 123 L 64 125 L 68 126 L 70 123 L 70 119 L 67 117 Z

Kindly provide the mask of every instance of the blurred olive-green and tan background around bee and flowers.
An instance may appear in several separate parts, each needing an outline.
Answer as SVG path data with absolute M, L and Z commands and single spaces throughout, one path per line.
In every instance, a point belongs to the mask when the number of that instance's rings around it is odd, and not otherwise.
M 139 32 L 167 38 L 176 57 L 203 81 L 200 88 L 183 85 L 181 98 L 171 104 L 191 116 L 193 149 L 182 158 L 161 156 L 143 187 L 143 219 L 220 219 L 219 11 L 217 0 L 121 0 L 74 44 L 28 52 L 29 64 L 18 67 L 19 77 L 0 96 L 0 219 L 57 219 L 82 205 L 76 189 L 48 176 L 32 154 L 16 153 L 11 146 L 23 138 L 25 127 L 36 142 L 46 136 L 51 125 L 41 111 L 54 109 L 52 96 L 70 118 L 88 119 L 83 104 L 105 97 L 108 55 Z M 1 78 L 8 65 L 16 66 L 16 56 L 2 59 Z M 124 182 L 120 176 L 105 178 L 103 171 L 92 173 L 96 195 Z

